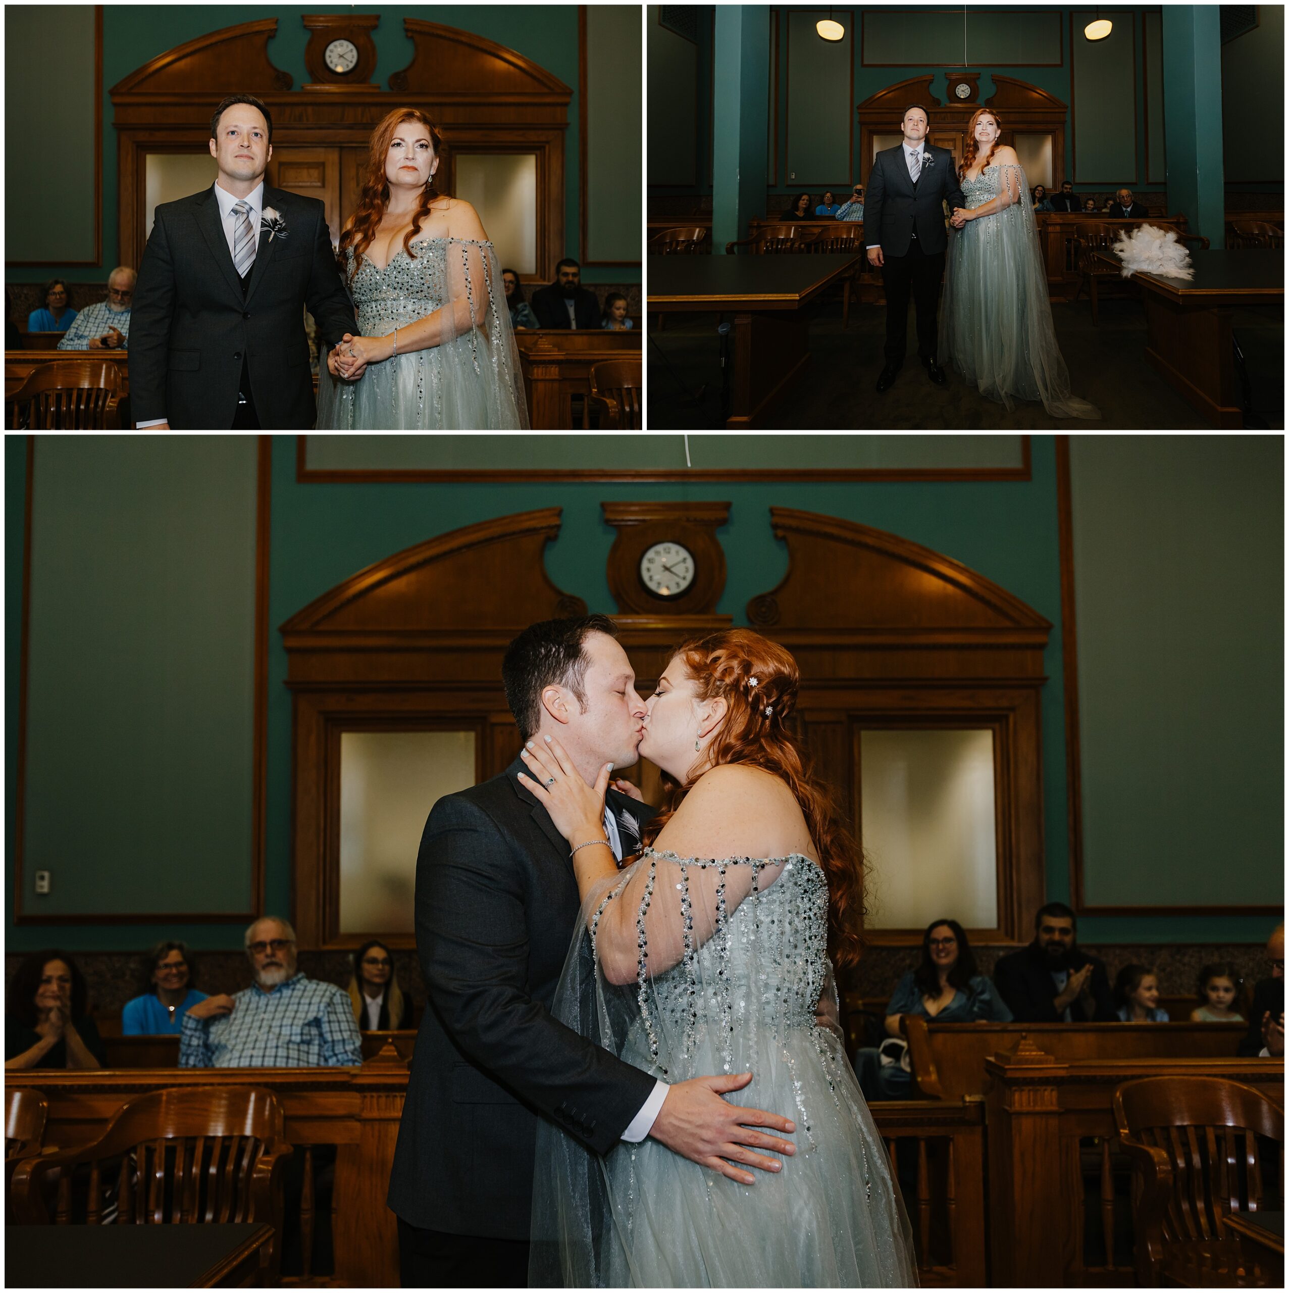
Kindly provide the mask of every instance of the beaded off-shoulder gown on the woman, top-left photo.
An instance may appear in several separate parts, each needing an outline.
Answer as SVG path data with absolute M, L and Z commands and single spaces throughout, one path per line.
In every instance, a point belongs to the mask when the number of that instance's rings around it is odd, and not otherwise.
M 490 242 L 418 238 L 380 269 L 366 256 L 345 282 L 358 306 L 358 335 L 443 312 L 438 345 L 367 365 L 357 381 L 318 366 L 318 428 L 343 431 L 515 431 L 527 428 L 518 350 Z

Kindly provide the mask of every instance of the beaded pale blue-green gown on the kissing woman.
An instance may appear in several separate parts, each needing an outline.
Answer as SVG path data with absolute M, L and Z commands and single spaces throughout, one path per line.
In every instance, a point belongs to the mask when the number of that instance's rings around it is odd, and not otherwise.
M 592 932 L 615 901 L 637 932 L 626 987 L 605 978 Z M 835 1010 L 818 865 L 646 848 L 591 895 L 578 930 L 556 1018 L 668 1082 L 752 1072 L 725 1099 L 793 1118 L 796 1153 L 743 1186 L 648 1138 L 600 1159 L 543 1121 L 530 1283 L 917 1284 L 882 1139 L 839 1031 L 816 1018 L 821 999 Z

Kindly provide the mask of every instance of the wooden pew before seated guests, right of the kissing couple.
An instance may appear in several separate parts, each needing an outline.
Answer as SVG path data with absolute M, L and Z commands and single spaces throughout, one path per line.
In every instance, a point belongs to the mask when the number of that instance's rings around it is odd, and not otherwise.
M 1245 1024 L 937 1024 L 904 1015 L 913 1078 L 928 1099 L 986 1095 L 986 1060 L 1014 1055 L 1028 1038 L 1071 1060 L 1230 1059 Z

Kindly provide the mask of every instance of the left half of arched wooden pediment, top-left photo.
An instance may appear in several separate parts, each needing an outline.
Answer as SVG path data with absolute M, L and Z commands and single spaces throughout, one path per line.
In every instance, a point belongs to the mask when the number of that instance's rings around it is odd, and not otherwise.
M 129 94 L 209 94 L 212 106 L 225 94 L 272 94 L 291 89 L 293 78 L 269 61 L 269 37 L 277 35 L 277 18 L 239 22 L 221 27 L 186 45 L 158 54 L 119 80 L 111 94 L 115 102 Z

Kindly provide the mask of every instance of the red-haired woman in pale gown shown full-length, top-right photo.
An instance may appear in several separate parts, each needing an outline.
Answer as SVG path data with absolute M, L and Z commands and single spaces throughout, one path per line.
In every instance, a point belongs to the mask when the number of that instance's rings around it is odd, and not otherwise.
M 971 206 L 954 212 L 949 235 L 940 362 L 1008 411 L 1017 398 L 1041 400 L 1054 418 L 1100 418 L 1069 393 L 1029 184 L 1015 150 L 998 144 L 1001 131 L 988 109 L 967 127 L 958 177 Z

